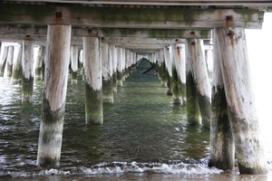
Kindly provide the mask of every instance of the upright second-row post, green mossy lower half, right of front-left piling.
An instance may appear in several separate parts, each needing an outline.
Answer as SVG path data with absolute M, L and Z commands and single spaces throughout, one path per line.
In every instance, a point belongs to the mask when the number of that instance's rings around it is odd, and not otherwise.
M 86 123 L 102 124 L 102 62 L 99 38 L 83 37 L 83 51 Z

